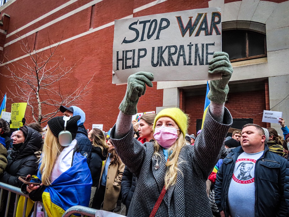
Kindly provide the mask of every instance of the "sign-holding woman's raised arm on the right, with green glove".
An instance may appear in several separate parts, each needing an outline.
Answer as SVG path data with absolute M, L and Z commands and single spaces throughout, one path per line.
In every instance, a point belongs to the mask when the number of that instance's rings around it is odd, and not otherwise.
M 205 178 L 218 161 L 221 146 L 233 123 L 231 114 L 224 107 L 229 92 L 228 82 L 233 72 L 229 56 L 224 52 L 216 52 L 209 64 L 209 73 L 222 73 L 222 79 L 210 81 L 208 98 L 211 103 L 201 134 L 194 144 L 194 159 Z

